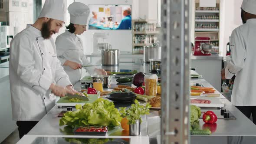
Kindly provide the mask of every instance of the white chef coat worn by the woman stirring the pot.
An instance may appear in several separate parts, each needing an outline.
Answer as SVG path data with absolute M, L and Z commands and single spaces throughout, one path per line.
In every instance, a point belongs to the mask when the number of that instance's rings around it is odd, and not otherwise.
M 77 62 L 81 65 L 92 65 L 83 52 L 82 40 L 75 33 L 66 30 L 56 38 L 56 50 L 58 59 L 63 65 L 66 60 Z M 70 82 L 75 85 L 82 76 L 82 69 L 72 69 L 69 65 L 63 65 L 65 72 L 69 75 Z M 94 67 L 87 67 L 89 74 L 93 74 Z

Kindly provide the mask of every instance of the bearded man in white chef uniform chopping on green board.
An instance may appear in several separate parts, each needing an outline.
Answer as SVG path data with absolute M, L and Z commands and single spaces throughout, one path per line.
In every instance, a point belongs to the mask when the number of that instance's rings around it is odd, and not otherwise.
M 76 93 L 51 38 L 62 27 L 65 12 L 66 0 L 46 0 L 38 20 L 10 44 L 12 111 L 20 138 L 53 108 L 56 96 Z

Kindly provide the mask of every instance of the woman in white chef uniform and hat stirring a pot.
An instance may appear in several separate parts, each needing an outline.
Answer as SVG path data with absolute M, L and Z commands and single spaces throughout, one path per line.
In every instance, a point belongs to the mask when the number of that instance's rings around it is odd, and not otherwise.
M 70 82 L 75 85 L 79 82 L 82 74 L 82 65 L 92 65 L 83 52 L 82 40 L 77 36 L 86 31 L 87 19 L 90 13 L 89 7 L 84 3 L 74 2 L 68 7 L 70 24 L 56 38 L 57 56 L 63 65 L 65 72 L 69 75 Z M 95 72 L 106 75 L 105 70 L 86 67 L 87 72 L 93 75 Z

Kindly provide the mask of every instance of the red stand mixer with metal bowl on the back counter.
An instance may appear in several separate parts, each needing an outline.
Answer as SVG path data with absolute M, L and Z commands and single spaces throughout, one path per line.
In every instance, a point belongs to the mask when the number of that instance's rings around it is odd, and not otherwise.
M 213 45 L 210 44 L 209 37 L 196 37 L 195 47 L 193 51 L 194 56 L 211 56 L 210 53 L 213 49 Z

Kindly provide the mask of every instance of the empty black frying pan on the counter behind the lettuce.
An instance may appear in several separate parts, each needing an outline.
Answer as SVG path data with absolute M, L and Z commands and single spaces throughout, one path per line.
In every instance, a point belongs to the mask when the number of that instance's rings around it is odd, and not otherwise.
M 135 100 L 136 95 L 129 92 L 118 92 L 105 96 L 105 98 L 115 102 L 131 102 Z

